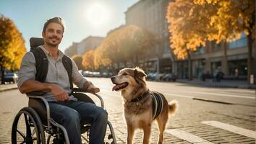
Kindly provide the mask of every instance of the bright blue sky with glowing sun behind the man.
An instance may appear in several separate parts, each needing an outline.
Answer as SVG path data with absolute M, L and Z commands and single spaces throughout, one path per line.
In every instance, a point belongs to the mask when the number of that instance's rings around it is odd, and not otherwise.
M 51 17 L 61 17 L 66 30 L 59 49 L 85 37 L 105 37 L 109 30 L 125 24 L 124 12 L 139 0 L 0 0 L 0 14 L 12 19 L 25 38 L 41 37 L 43 24 Z

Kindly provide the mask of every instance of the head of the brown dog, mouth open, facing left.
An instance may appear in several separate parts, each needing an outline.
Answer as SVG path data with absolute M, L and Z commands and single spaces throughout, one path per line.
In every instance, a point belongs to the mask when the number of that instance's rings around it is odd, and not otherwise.
M 140 68 L 124 68 L 119 71 L 117 76 L 112 76 L 111 81 L 116 84 L 113 91 L 134 91 L 135 89 L 145 88 L 145 77 L 147 75 Z M 128 93 L 130 93 L 128 92 Z

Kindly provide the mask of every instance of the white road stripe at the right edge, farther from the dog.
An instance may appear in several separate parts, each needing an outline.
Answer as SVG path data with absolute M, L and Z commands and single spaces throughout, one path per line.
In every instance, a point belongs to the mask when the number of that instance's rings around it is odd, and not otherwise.
M 203 121 L 202 123 L 206 124 L 206 125 L 211 125 L 213 127 L 218 127 L 223 130 L 228 130 L 229 132 L 234 132 L 239 135 L 244 135 L 249 138 L 256 138 L 256 136 L 255 136 L 256 133 L 253 130 L 247 130 L 242 127 L 236 127 L 234 125 L 229 125 L 229 124 L 226 124 L 223 122 L 218 122 L 218 121 Z

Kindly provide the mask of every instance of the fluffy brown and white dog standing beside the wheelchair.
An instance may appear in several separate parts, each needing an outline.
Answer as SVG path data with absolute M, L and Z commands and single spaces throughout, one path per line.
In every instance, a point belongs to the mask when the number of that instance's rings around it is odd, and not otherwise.
M 137 128 L 143 130 L 143 144 L 150 143 L 151 125 L 154 120 L 158 123 L 158 143 L 163 143 L 163 131 L 166 129 L 169 114 L 174 114 L 178 108 L 176 101 L 167 102 L 163 94 L 149 91 L 145 81 L 147 75 L 140 68 L 124 68 L 117 76 L 111 77 L 113 91 L 121 91 L 124 99 L 124 117 L 127 122 L 127 143 L 132 139 Z M 155 103 L 153 94 L 158 94 L 161 111 L 155 117 Z M 159 100 L 160 99 L 160 100 Z

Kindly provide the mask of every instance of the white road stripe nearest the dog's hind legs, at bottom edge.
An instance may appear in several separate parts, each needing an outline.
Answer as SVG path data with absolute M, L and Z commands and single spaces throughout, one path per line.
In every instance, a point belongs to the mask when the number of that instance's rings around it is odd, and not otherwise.
M 214 143 L 209 142 L 208 140 L 202 139 L 200 137 L 197 137 L 196 135 L 192 135 L 189 132 L 185 132 L 185 131 L 179 130 L 179 129 L 168 129 L 168 130 L 165 130 L 165 132 L 168 132 L 171 135 L 174 135 L 177 138 L 180 138 L 182 140 L 186 140 L 189 143 L 214 144 Z

